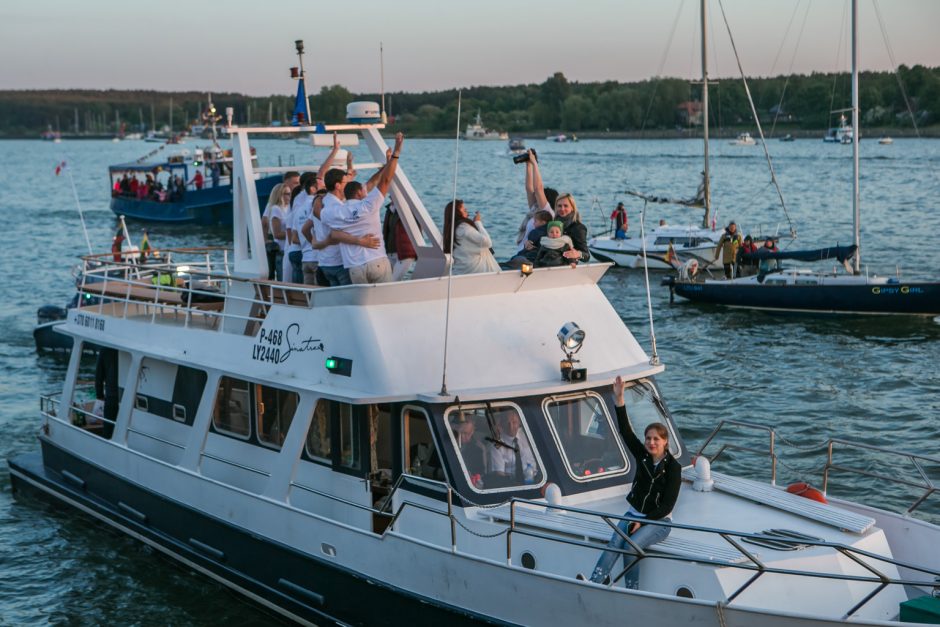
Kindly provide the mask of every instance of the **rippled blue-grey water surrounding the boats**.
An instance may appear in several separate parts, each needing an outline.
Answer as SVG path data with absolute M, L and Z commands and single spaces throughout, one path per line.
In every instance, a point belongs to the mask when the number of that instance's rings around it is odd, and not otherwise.
M 547 185 L 570 191 L 591 226 L 624 189 L 691 196 L 701 169 L 696 141 L 529 142 L 538 149 Z M 263 162 L 309 163 L 292 142 L 256 143 Z M 61 386 L 65 363 L 37 356 L 35 310 L 64 304 L 73 292 L 71 268 L 85 252 L 75 199 L 62 160 L 74 176 L 96 251 L 106 250 L 115 228 L 108 209 L 107 166 L 135 159 L 153 146 L 141 142 L 0 142 L 0 271 L 6 277 L 0 309 L 0 457 L 37 446 L 37 394 Z M 191 148 L 191 147 L 190 147 Z M 851 147 L 796 141 L 771 145 L 787 209 L 801 247 L 849 243 Z M 863 263 L 872 272 L 940 278 L 940 142 L 862 143 Z M 525 205 L 522 166 L 501 142 L 462 143 L 458 196 L 480 210 L 500 258 L 512 249 Z M 759 147 L 713 143 L 714 202 L 720 222 L 737 220 L 744 232 L 786 231 Z M 365 155 L 362 155 L 363 160 Z M 406 142 L 402 166 L 429 210 L 440 216 L 454 187 L 454 143 Z M 596 199 L 596 204 L 594 202 Z M 631 233 L 639 209 L 628 201 Z M 651 209 L 648 223 L 696 222 L 697 213 Z M 129 225 L 132 236 L 141 225 Z M 152 226 L 157 247 L 227 245 L 224 229 Z M 775 427 L 782 463 L 779 481 L 819 483 L 828 436 L 856 439 L 940 457 L 940 323 L 929 319 L 811 318 L 728 311 L 689 303 L 670 306 L 651 276 L 659 378 L 683 436 L 697 446 L 721 419 Z M 601 282 L 614 307 L 649 346 L 643 275 L 613 269 Z M 588 342 L 601 341 L 588 329 Z M 766 446 L 766 435 L 750 442 Z M 796 446 L 791 446 L 791 443 Z M 800 448 L 797 448 L 800 447 Z M 769 478 L 766 458 L 726 454 L 729 467 Z M 881 459 L 882 472 L 908 472 L 897 459 Z M 871 466 L 875 469 L 878 466 Z M 936 470 L 936 469 L 935 469 Z M 909 505 L 908 492 L 872 492 L 872 482 L 835 477 L 837 494 L 875 505 Z M 935 508 L 934 512 L 937 511 Z M 35 501 L 13 501 L 0 471 L 0 624 L 149 625 L 264 624 L 267 616 L 204 578 L 176 568 L 140 544 L 90 520 Z

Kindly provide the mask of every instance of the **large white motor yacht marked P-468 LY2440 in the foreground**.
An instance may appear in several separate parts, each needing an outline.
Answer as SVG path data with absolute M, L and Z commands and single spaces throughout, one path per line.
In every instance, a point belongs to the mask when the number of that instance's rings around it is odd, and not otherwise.
M 376 160 L 360 170 L 384 162 L 384 125 L 338 128 L 358 130 Z M 228 130 L 234 253 L 86 259 L 125 270 L 84 283 L 116 300 L 63 325 L 77 348 L 103 347 L 103 403 L 73 350 L 62 391 L 41 400 L 41 452 L 10 460 L 14 492 L 71 505 L 306 625 L 883 625 L 933 589 L 940 528 L 880 508 L 910 485 L 893 465 L 876 500 L 828 505 L 773 481 L 708 479 L 704 457 L 693 470 L 655 383 L 664 367 L 598 287 L 608 266 L 449 277 L 401 169 L 392 197 L 416 243 L 411 280 L 268 281 L 249 135 L 312 127 Z M 584 334 L 559 332 L 565 320 Z M 613 420 L 617 375 L 633 428 L 663 422 L 685 467 L 672 521 L 645 521 L 672 531 L 634 566 L 638 590 L 616 571 L 609 586 L 575 577 L 605 547 L 635 472 Z M 500 425 L 518 430 L 497 449 Z M 524 469 L 487 470 L 523 442 Z M 833 455 L 871 448 L 832 441 L 826 468 L 851 470 Z

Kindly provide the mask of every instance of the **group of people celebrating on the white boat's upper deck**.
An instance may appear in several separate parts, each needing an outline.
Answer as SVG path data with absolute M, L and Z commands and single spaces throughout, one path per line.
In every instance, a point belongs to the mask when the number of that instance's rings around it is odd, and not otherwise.
M 356 181 L 352 155 L 334 167 L 339 140 L 317 172 L 287 172 L 271 191 L 262 216 L 269 279 L 306 285 L 384 283 L 406 278 L 417 259 L 394 202 L 381 207 L 394 178 L 404 138 L 399 133 L 386 163 L 364 183 Z M 462 200 L 444 210 L 444 252 L 454 274 L 535 267 L 574 266 L 590 259 L 587 227 L 571 194 L 544 187 L 533 151 L 526 162 L 528 212 L 519 248 L 499 263 L 479 211 L 470 217 Z

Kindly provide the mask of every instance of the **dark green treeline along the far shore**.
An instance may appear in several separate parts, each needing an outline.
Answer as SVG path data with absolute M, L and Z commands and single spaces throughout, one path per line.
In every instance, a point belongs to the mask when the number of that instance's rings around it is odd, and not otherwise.
M 749 85 L 762 122 L 776 120 L 778 128 L 823 129 L 835 124 L 832 110 L 850 105 L 847 74 L 750 78 Z M 903 86 L 903 91 L 902 91 Z M 713 127 L 752 126 L 744 85 L 725 78 L 712 86 L 710 124 Z M 905 102 L 907 96 L 907 103 Z M 338 122 L 353 100 L 378 100 L 378 94 L 354 94 L 340 85 L 324 87 L 310 98 L 314 120 Z M 860 79 L 863 126 L 910 127 L 908 103 L 918 126 L 940 123 L 940 68 L 901 66 L 898 74 L 863 72 Z M 470 87 L 463 90 L 460 125 L 477 111 L 488 128 L 509 132 L 566 132 L 663 130 L 698 126 L 685 105 L 701 100 L 701 86 L 678 78 L 636 83 L 607 81 L 578 83 L 556 73 L 540 84 Z M 250 97 L 213 94 L 220 113 L 234 107 L 238 124 L 288 124 L 292 95 Z M 411 134 L 452 134 L 457 115 L 456 90 L 386 94 L 395 126 Z M 0 91 L 0 136 L 35 136 L 47 129 L 63 133 L 114 133 L 174 130 L 196 122 L 206 108 L 206 94 L 153 91 Z M 691 107 L 694 110 L 694 105 Z

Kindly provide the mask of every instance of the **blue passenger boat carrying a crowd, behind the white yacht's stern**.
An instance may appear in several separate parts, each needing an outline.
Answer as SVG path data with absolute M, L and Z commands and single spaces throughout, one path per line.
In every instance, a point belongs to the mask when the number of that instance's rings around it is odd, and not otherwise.
M 164 223 L 232 223 L 231 151 L 213 146 L 193 155 L 138 160 L 108 168 L 111 211 L 135 220 Z M 131 181 L 136 183 L 131 187 Z M 259 176 L 258 198 L 267 199 L 280 174 Z M 141 187 L 145 190 L 141 190 Z

